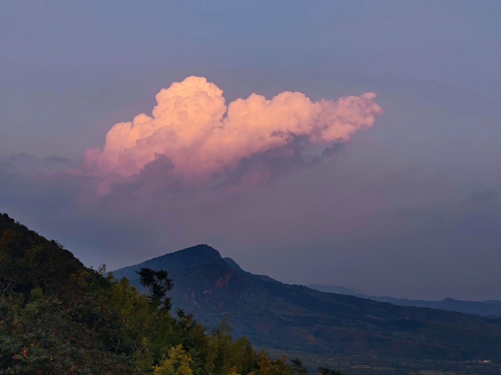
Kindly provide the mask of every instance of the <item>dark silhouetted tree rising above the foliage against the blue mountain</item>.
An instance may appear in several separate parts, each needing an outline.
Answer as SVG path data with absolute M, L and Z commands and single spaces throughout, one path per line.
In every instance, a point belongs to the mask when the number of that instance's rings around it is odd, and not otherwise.
M 169 278 L 167 271 L 163 269 L 140 268 L 136 273 L 139 275 L 141 285 L 148 288 L 150 302 L 162 310 L 170 310 L 172 301 L 167 296 L 167 292 L 174 287 L 174 283 Z

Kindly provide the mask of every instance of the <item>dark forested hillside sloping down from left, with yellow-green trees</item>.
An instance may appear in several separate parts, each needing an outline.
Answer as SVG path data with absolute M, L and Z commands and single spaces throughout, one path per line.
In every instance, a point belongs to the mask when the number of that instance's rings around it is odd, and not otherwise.
M 158 295 L 168 292 L 167 276 L 144 278 L 150 294 L 141 294 L 0 214 L 0 373 L 305 373 L 299 360 L 272 360 L 246 337 L 233 339 L 224 320 L 208 332 L 169 311 L 168 294 Z

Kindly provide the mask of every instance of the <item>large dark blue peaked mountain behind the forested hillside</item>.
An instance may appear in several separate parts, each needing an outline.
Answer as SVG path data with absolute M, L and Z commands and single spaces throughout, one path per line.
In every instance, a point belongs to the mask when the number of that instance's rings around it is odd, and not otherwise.
M 174 308 L 208 326 L 227 318 L 255 345 L 317 353 L 413 359 L 501 359 L 501 319 L 400 306 L 289 285 L 241 269 L 200 244 L 113 272 L 137 285 L 140 267 L 174 279 Z

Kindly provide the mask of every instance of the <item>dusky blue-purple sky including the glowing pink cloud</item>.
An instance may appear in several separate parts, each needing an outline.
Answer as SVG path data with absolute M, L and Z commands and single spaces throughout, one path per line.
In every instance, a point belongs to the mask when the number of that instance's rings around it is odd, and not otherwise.
M 0 211 L 86 265 L 501 299 L 500 2 L 2 7 Z

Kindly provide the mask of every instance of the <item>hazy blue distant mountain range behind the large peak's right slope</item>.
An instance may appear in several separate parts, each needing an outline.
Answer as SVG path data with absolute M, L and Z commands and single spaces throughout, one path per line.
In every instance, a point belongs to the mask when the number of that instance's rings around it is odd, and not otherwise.
M 374 296 L 357 292 L 344 286 L 311 284 L 309 287 L 327 293 L 355 295 L 360 298 L 373 299 L 380 302 L 389 302 L 400 306 L 430 307 L 441 310 L 465 312 L 484 316 L 501 316 L 501 301 L 490 299 L 486 301 L 463 301 L 453 298 L 444 298 L 438 301 L 428 301 L 408 298 L 394 298 L 389 296 Z

